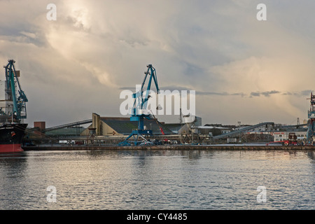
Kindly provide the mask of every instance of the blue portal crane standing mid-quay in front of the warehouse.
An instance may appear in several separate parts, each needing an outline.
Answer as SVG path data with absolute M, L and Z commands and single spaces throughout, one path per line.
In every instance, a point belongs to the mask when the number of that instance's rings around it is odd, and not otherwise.
M 151 90 L 152 80 L 155 83 L 156 91 L 158 94 L 160 93 L 160 89 L 158 86 L 158 78 L 156 76 L 156 71 L 153 68 L 152 64 L 147 65 L 147 70 L 144 72 L 146 76 L 144 76 L 144 81 L 139 87 L 139 90 L 136 90 L 136 93 L 132 94 L 134 98 L 134 105 L 130 111 L 130 120 L 138 122 L 138 129 L 133 130 L 125 141 L 121 142 L 120 146 L 130 146 L 132 143 L 137 146 L 142 141 L 146 141 L 144 136 L 151 136 L 152 130 L 144 130 L 144 118 L 151 120 L 151 113 L 148 111 L 148 99 L 150 98 L 149 92 Z M 146 79 L 148 78 L 148 86 L 146 90 L 144 89 L 144 85 L 146 83 Z M 130 138 L 133 137 L 133 141 Z

